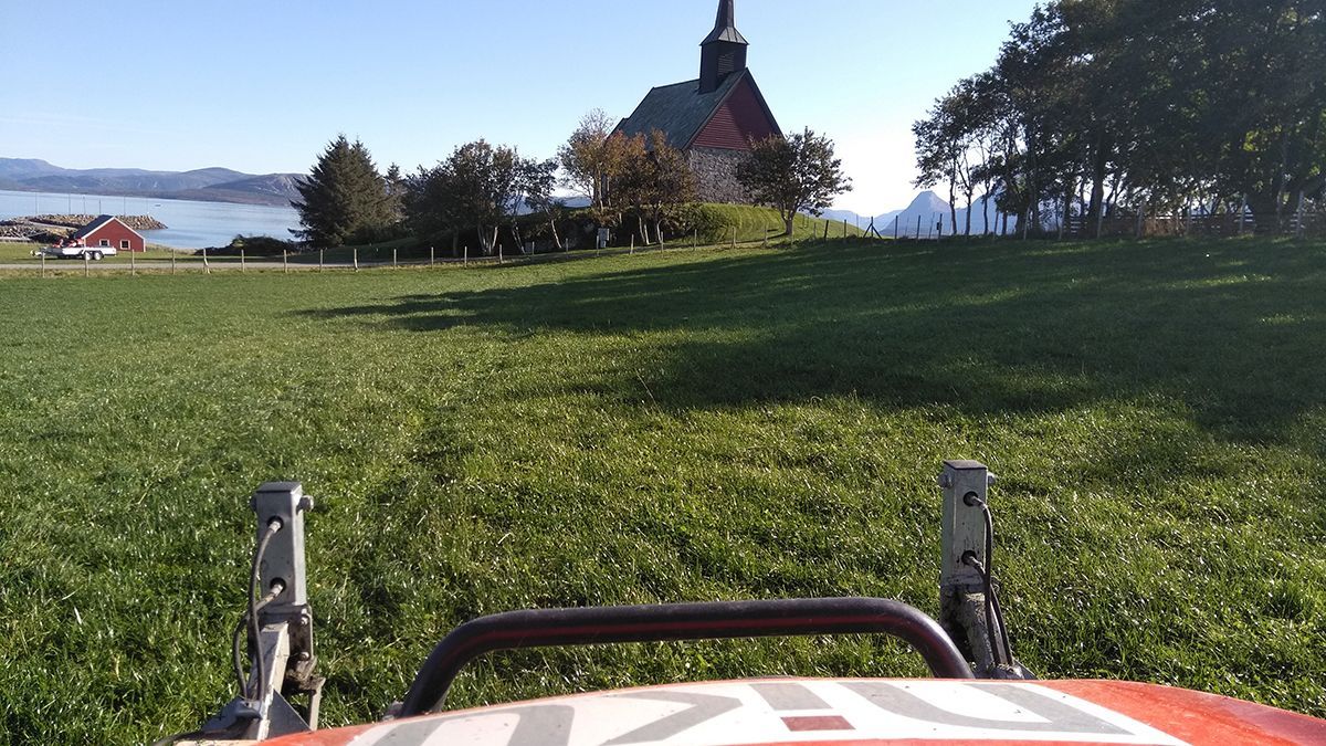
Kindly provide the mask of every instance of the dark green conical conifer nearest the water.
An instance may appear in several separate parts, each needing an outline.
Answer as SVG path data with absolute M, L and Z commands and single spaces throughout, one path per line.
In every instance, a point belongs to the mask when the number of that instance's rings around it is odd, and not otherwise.
M 394 222 L 387 182 L 369 149 L 342 134 L 332 141 L 306 179 L 297 185 L 304 240 L 320 247 L 346 246 L 379 235 Z

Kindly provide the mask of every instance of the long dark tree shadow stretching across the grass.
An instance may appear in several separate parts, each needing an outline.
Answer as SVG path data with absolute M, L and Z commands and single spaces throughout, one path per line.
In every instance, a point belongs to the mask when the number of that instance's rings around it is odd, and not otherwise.
M 1269 442 L 1326 405 L 1322 259 L 1236 242 L 831 247 L 309 313 L 631 337 L 595 346 L 635 360 L 562 385 L 639 401 L 644 384 L 671 409 L 850 394 L 985 415 L 1163 397 L 1217 435 Z

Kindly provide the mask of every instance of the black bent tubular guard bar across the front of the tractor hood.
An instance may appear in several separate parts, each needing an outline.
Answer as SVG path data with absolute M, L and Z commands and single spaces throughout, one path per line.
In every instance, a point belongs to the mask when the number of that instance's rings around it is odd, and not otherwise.
M 939 678 L 976 678 L 939 623 L 907 604 L 884 599 L 542 609 L 485 616 L 457 627 L 438 642 L 419 669 L 399 717 L 440 711 L 456 674 L 495 650 L 876 633 L 911 645 Z

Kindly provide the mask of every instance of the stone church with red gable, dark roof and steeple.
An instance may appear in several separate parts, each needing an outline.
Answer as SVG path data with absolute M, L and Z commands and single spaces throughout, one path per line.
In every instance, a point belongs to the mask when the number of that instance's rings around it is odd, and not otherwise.
M 736 169 L 751 143 L 782 134 L 747 68 L 749 44 L 736 27 L 736 0 L 720 0 L 713 31 L 700 44 L 700 77 L 655 88 L 617 133 L 659 130 L 683 151 L 701 202 L 745 202 Z

